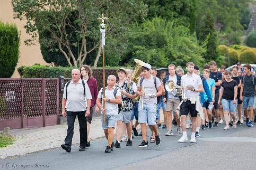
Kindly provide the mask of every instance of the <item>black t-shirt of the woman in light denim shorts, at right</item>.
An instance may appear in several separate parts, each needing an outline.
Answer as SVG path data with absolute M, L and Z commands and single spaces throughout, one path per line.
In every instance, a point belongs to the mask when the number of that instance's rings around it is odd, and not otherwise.
M 220 86 L 224 88 L 222 98 L 226 100 L 233 100 L 234 99 L 234 87 L 237 86 L 237 82 L 232 80 L 231 82 L 227 82 L 226 80 L 223 81 Z

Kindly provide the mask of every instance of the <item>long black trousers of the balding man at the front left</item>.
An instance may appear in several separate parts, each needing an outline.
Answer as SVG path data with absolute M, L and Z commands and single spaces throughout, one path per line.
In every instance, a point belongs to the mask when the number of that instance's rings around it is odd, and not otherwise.
M 80 131 L 80 146 L 86 147 L 87 144 L 87 126 L 86 126 L 86 117 L 85 111 L 66 111 L 67 113 L 67 136 L 65 138 L 65 145 L 71 147 L 72 138 L 74 135 L 74 123 L 76 115 L 79 122 L 79 131 Z

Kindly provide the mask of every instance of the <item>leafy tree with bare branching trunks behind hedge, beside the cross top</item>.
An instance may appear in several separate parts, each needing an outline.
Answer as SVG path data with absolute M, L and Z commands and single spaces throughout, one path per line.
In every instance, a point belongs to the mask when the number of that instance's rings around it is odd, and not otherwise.
M 101 54 L 97 18 L 102 12 L 110 17 L 107 37 L 125 33 L 127 25 L 142 21 L 147 12 L 142 0 L 12 0 L 12 6 L 14 18 L 27 20 L 24 27 L 31 38 L 25 43 L 31 45 L 35 42 L 40 27 L 42 32 L 49 32 L 51 35 L 50 39 L 41 39 L 40 44 L 48 47 L 57 44 L 68 64 L 74 67 L 83 64 L 86 56 L 93 51 L 97 54 L 94 62 L 96 67 Z M 50 12 L 50 17 L 47 11 Z

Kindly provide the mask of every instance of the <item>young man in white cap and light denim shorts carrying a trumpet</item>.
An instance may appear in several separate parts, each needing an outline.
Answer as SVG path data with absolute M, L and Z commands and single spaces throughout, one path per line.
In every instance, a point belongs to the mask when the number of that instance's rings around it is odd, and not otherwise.
M 142 65 L 143 78 L 138 80 L 138 95 L 140 96 L 139 102 L 139 124 L 142 128 L 142 143 L 138 147 L 147 147 L 147 127 L 151 128 L 156 134 L 156 145 L 161 143 L 160 134 L 157 131 L 156 125 L 156 102 L 157 97 L 162 95 L 161 82 L 158 78 L 150 74 L 151 65 L 144 63 Z

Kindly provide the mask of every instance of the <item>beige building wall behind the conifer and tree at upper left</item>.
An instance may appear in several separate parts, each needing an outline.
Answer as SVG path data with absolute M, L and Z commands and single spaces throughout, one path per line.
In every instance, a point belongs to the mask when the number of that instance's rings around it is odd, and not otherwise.
M 23 28 L 25 21 L 13 19 L 11 0 L 0 0 L 0 2 L 0 20 L 2 22 L 15 23 L 17 25 L 17 29 L 21 31 L 20 59 L 17 63 L 17 67 L 20 67 L 21 65 L 33 65 L 34 63 L 47 64 L 42 58 L 39 43 L 31 46 L 26 46 L 24 44 L 24 40 L 29 37 Z M 19 73 L 17 72 L 17 67 L 12 75 L 12 78 L 20 77 Z

